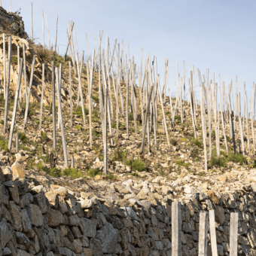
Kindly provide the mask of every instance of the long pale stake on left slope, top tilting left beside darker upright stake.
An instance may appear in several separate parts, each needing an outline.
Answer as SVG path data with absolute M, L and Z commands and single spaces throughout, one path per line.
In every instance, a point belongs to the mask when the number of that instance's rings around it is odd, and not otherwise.
M 58 115 L 59 115 L 59 120 L 60 120 L 63 154 L 64 154 L 65 165 L 66 165 L 66 167 L 68 167 L 69 166 L 69 158 L 68 158 L 68 151 L 67 151 L 67 144 L 66 144 L 65 127 L 64 127 L 64 121 L 63 121 L 63 116 L 62 116 L 61 93 L 59 90 L 59 81 L 61 80 L 62 74 L 61 74 L 61 72 L 59 74 L 58 68 L 56 68 L 55 70 L 56 70 L 56 92 L 58 93 L 57 99 L 58 99 L 58 106 L 59 106 Z M 61 71 L 61 69 L 60 69 L 60 71 Z

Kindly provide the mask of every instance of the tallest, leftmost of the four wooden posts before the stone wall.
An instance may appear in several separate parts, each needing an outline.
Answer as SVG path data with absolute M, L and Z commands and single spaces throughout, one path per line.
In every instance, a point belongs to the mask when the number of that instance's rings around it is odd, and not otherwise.
M 172 255 L 181 256 L 181 203 L 172 203 Z

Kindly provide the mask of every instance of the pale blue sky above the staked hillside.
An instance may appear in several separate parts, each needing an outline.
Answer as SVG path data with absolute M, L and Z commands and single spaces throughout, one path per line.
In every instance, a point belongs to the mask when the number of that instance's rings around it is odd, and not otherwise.
M 9 0 L 2 0 L 9 11 Z M 12 11 L 21 8 L 26 32 L 31 35 L 31 1 L 12 0 Z M 44 10 L 50 26 L 51 42 L 55 40 L 56 15 L 59 15 L 58 45 L 64 53 L 67 44 L 66 28 L 69 20 L 75 22 L 79 50 L 87 53 L 85 32 L 93 50 L 96 33 L 108 33 L 111 47 L 114 39 L 130 43 L 130 55 L 140 65 L 141 47 L 144 60 L 148 52 L 157 56 L 160 77 L 163 78 L 164 56 L 183 71 L 189 63 L 205 73 L 206 69 L 239 82 L 246 81 L 248 95 L 256 72 L 256 2 L 237 0 L 36 0 L 33 2 L 34 38 L 41 42 L 41 11 Z M 45 43 L 48 44 L 45 26 Z M 125 48 L 126 49 L 126 48 Z M 169 81 L 173 86 L 171 70 Z M 198 81 L 198 78 L 196 79 Z M 174 88 L 174 87 L 173 87 Z

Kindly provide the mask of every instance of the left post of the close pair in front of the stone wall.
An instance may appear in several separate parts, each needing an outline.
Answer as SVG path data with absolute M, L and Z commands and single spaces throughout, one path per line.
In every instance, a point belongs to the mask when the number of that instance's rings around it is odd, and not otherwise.
M 207 255 L 208 212 L 200 212 L 198 255 Z

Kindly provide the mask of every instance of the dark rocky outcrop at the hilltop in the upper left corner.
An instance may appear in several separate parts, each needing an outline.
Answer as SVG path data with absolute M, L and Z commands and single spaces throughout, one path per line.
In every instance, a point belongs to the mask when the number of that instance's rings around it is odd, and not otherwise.
M 0 7 L 0 33 L 17 35 L 20 38 L 27 38 L 22 17 Z

